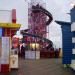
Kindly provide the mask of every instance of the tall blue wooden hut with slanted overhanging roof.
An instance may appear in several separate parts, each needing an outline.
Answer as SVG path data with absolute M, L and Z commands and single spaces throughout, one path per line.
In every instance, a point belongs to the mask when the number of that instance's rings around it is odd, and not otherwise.
M 62 50 L 63 50 L 63 64 L 71 64 L 72 58 L 72 35 L 71 23 L 56 21 L 56 23 L 61 25 L 62 28 Z

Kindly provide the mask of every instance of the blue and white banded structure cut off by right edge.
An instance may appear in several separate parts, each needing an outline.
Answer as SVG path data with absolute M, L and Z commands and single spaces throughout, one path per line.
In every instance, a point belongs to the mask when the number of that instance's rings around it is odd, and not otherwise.
M 72 36 L 72 59 L 71 59 L 71 67 L 75 70 L 75 5 L 74 8 L 71 9 L 71 32 Z

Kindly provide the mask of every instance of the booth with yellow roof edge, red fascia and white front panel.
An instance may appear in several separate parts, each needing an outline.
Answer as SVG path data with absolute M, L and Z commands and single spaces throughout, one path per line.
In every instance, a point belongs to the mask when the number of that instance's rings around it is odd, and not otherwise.
M 14 58 L 14 54 L 12 54 L 12 49 L 11 49 L 11 38 L 13 35 L 15 35 L 15 32 L 17 29 L 20 27 L 20 24 L 8 24 L 8 23 L 0 23 L 0 27 L 2 28 L 2 37 L 1 37 L 1 43 L 0 43 L 0 69 L 1 72 L 9 72 L 11 68 L 11 63 L 12 59 Z M 18 60 L 18 54 L 16 55 L 16 58 Z M 13 65 L 13 64 L 12 64 Z M 18 65 L 18 61 L 17 61 Z M 16 67 L 16 66 L 15 66 Z M 14 68 L 15 68 L 14 67 Z M 18 67 L 16 67 L 18 68 Z

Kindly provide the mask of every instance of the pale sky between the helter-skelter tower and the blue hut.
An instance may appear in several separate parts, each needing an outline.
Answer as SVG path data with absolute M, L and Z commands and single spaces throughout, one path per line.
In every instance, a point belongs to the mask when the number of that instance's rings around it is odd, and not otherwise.
M 49 39 L 54 42 L 55 47 L 62 47 L 62 32 L 61 26 L 54 21 L 70 22 L 71 3 L 74 0 L 46 0 L 47 10 L 53 15 L 53 22 L 49 26 Z

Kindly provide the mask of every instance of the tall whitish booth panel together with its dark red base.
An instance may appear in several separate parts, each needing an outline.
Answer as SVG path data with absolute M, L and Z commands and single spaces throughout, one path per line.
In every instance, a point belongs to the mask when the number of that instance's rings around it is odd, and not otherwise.
M 10 38 L 0 38 L 0 72 L 9 71 Z

